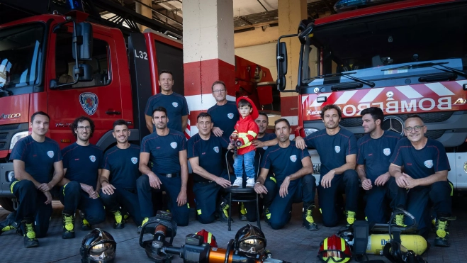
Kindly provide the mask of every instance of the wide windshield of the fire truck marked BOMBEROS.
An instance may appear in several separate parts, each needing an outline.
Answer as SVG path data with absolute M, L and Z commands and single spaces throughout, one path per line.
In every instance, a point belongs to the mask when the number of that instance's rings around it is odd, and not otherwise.
M 300 86 L 330 92 L 355 82 L 350 73 L 373 87 L 466 79 L 466 25 L 465 4 L 318 24 L 303 46 Z

